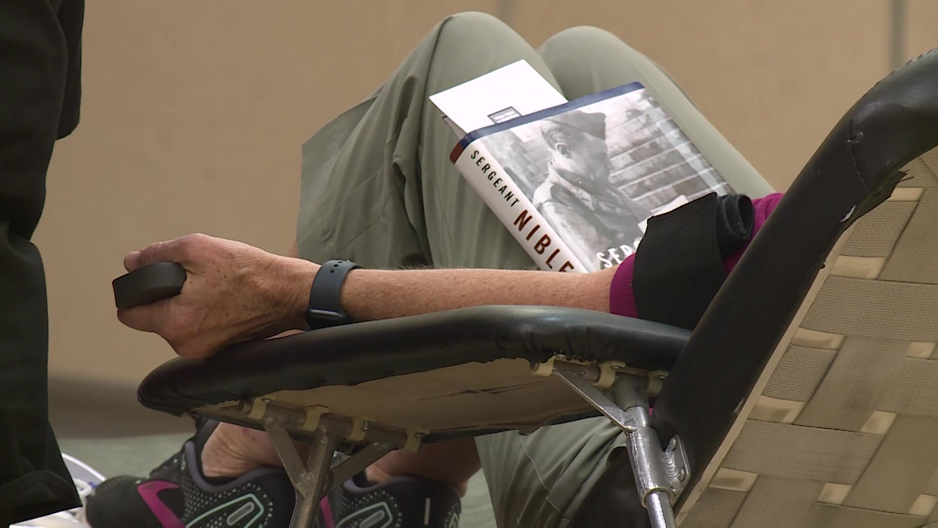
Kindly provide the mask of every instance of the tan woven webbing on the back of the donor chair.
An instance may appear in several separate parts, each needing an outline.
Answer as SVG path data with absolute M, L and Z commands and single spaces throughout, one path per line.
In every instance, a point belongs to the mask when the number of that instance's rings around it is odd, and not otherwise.
M 902 170 L 826 258 L 681 526 L 938 520 L 938 148 Z

